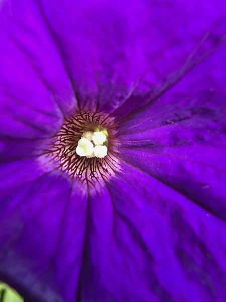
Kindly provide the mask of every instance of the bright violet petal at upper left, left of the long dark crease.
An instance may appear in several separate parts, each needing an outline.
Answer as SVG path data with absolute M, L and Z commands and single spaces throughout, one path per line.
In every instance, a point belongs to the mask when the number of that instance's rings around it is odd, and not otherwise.
M 3 4 L 0 39 L 1 132 L 17 138 L 54 134 L 77 104 L 34 2 Z

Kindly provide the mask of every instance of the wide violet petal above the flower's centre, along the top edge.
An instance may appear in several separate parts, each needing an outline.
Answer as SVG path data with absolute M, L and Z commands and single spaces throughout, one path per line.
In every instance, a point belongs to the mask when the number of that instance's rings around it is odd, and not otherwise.
M 51 43 L 49 48 L 54 47 L 45 54 L 41 48 L 42 61 L 50 65 L 48 74 L 45 70 L 42 75 L 51 91 L 60 80 L 59 104 L 69 87 L 81 109 L 112 112 L 119 108 L 115 112 L 119 119 L 141 106 L 138 95 L 143 96 L 142 104 L 147 103 L 220 42 L 223 23 L 225 27 L 221 4 L 219 0 L 15 0 L 12 10 L 13 18 L 29 24 L 31 33 L 37 35 L 40 24 L 42 38 Z M 49 61 L 55 60 L 57 65 L 52 66 Z M 57 79 L 56 68 L 57 74 L 61 71 Z M 70 83 L 63 78 L 65 72 Z M 66 108 L 70 107 L 70 93 L 67 99 Z

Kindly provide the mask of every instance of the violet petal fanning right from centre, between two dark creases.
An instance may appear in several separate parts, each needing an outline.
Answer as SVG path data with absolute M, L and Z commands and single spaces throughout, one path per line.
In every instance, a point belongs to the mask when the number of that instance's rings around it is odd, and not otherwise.
M 210 64 L 204 61 L 158 101 L 125 119 L 118 135 L 122 160 L 225 220 L 225 69 L 203 74 L 222 55 L 222 46 Z M 204 88 L 198 90 L 192 84 L 200 71 Z

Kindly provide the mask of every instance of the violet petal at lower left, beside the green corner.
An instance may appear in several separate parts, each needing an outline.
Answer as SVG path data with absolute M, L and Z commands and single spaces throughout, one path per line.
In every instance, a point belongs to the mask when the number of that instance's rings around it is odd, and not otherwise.
M 32 301 L 73 301 L 86 199 L 53 173 L 7 188 L 5 195 L 0 203 L 0 278 Z

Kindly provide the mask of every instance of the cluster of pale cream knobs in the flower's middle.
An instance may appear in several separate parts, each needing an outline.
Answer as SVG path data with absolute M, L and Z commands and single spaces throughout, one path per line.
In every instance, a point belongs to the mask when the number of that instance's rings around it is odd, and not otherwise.
M 86 158 L 102 159 L 107 155 L 107 137 L 103 131 L 86 131 L 81 135 L 76 154 Z

